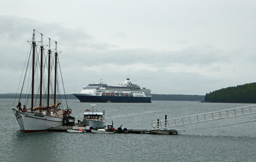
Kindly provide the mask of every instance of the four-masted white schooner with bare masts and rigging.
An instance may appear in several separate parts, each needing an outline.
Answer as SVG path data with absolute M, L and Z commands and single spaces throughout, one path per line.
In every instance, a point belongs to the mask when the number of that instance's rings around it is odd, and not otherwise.
M 44 131 L 51 127 L 60 127 L 65 124 L 65 122 L 68 124 L 71 119 L 67 117 L 72 113 L 71 109 L 68 109 L 67 104 L 66 111 L 63 111 L 64 106 L 61 104 L 62 100 L 60 99 L 60 95 L 57 95 L 56 92 L 60 90 L 57 83 L 63 83 L 63 81 L 58 80 L 57 68 L 60 65 L 57 42 L 55 42 L 53 53 L 50 46 L 51 39 L 49 38 L 49 49 L 45 53 L 43 34 L 41 34 L 40 47 L 37 47 L 39 43 L 36 43 L 35 35 L 36 30 L 33 32 L 32 41 L 28 41 L 31 49 L 30 53 L 28 53 L 29 58 L 26 63 L 26 72 L 24 72 L 21 94 L 19 100 L 16 102 L 18 105 L 17 107 L 13 105 L 12 108 L 22 132 Z M 54 55 L 53 58 L 51 58 L 52 55 Z M 51 64 L 52 62 L 55 62 L 55 64 Z M 51 72 L 54 74 L 51 75 Z M 36 81 L 36 79 L 38 79 L 38 81 Z M 43 92 L 45 92 L 45 94 L 43 94 Z M 23 108 L 21 108 L 21 102 L 23 103 Z

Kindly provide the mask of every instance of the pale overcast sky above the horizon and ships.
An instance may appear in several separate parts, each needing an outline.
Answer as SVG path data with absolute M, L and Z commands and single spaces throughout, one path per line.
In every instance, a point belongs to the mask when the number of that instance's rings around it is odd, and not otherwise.
M 33 29 L 58 42 L 67 94 L 100 78 L 191 95 L 256 81 L 255 0 L 1 1 L 2 94 L 17 92 Z

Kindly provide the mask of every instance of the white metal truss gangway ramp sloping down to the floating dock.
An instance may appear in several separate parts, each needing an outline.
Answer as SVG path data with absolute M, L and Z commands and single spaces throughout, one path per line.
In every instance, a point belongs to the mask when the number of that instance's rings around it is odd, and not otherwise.
M 153 122 L 151 125 L 154 130 L 166 129 L 175 126 L 182 126 L 193 123 L 207 122 L 216 119 L 223 119 L 228 117 L 236 117 L 241 115 L 248 115 L 256 113 L 256 105 L 251 105 L 247 107 L 238 107 L 234 109 L 227 109 L 221 111 L 214 111 L 210 113 L 203 113 L 197 115 L 190 115 L 186 117 L 178 117 L 174 119 L 166 119 L 157 122 Z

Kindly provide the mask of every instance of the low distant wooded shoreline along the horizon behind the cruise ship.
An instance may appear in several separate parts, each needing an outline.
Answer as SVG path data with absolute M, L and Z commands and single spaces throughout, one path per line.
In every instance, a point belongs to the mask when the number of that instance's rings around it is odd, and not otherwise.
M 28 94 L 27 94 L 28 95 Z M 23 94 L 21 98 L 25 98 L 26 94 Z M 0 94 L 0 98 L 19 98 L 19 94 Z M 64 94 L 61 94 L 61 98 L 65 98 Z M 73 94 L 66 94 L 67 99 L 76 100 L 77 98 Z M 77 99 L 78 100 L 78 99 Z M 203 95 L 185 95 L 185 94 L 152 94 L 151 100 L 162 101 L 204 101 Z

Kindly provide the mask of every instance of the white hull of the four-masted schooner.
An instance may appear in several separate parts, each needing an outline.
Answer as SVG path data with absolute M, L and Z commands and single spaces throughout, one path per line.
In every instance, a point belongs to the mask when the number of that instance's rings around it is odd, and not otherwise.
M 22 112 L 12 108 L 21 132 L 45 131 L 54 126 L 63 125 L 63 117 L 53 117 L 32 112 Z

